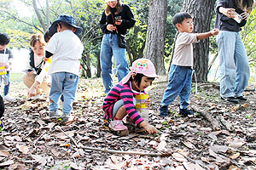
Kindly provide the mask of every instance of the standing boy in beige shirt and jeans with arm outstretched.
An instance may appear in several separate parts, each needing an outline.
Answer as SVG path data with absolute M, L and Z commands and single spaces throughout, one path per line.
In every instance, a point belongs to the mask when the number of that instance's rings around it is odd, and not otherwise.
M 193 45 L 201 39 L 218 35 L 218 29 L 205 33 L 191 33 L 194 29 L 193 17 L 189 13 L 175 14 L 172 24 L 176 26 L 179 34 L 175 42 L 168 85 L 160 104 L 160 116 L 168 116 L 168 105 L 180 98 L 179 114 L 182 116 L 194 115 L 189 111 L 189 96 L 193 74 Z

